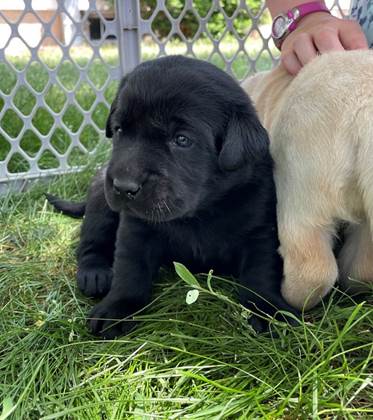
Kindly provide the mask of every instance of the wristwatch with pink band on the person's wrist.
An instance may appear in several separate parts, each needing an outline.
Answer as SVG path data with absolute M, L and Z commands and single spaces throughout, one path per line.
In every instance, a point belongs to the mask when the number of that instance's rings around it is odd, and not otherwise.
M 324 3 L 311 1 L 310 3 L 303 3 L 293 7 L 286 13 L 277 15 L 272 23 L 272 38 L 276 47 L 281 50 L 281 45 L 285 38 L 297 28 L 298 22 L 305 16 L 316 12 L 327 12 L 330 14 L 330 10 Z

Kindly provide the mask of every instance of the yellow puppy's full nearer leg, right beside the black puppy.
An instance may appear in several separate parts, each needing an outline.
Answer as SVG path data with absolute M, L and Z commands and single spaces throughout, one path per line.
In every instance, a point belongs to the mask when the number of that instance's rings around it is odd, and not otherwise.
M 338 277 L 333 235 L 339 194 L 336 182 L 322 171 L 327 164 L 319 165 L 321 158 L 312 156 L 300 160 L 291 154 L 278 155 L 275 170 L 280 254 L 284 259 L 281 291 L 298 309 L 319 303 Z

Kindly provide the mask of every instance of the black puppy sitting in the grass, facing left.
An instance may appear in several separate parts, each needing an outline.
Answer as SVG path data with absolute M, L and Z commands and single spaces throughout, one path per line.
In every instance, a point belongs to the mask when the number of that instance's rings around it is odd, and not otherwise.
M 147 305 L 154 276 L 172 261 L 237 277 L 245 306 L 294 312 L 280 294 L 267 133 L 231 77 L 181 56 L 140 64 L 120 84 L 106 135 L 112 157 L 87 203 L 49 197 L 85 214 L 78 285 L 105 296 L 90 314 L 93 333 L 127 332 L 131 322 L 113 320 Z

